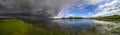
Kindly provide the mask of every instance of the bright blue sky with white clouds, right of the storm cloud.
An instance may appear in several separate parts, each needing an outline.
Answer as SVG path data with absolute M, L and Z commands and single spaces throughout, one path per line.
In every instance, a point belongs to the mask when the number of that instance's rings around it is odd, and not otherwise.
M 120 15 L 120 0 L 80 0 L 74 6 L 63 8 L 56 16 L 98 17 Z

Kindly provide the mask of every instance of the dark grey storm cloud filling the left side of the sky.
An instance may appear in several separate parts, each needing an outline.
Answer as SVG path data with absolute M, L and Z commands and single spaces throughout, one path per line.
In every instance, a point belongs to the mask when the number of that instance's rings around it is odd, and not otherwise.
M 79 0 L 0 0 L 0 16 L 41 17 L 56 16 L 61 9 Z

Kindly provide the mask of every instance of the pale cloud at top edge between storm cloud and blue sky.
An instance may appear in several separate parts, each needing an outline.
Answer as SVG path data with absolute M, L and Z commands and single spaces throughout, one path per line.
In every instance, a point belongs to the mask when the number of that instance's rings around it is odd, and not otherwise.
M 104 0 L 80 0 L 80 2 L 77 3 L 78 5 L 76 7 L 79 9 L 84 9 L 86 5 L 95 5 L 101 3 L 102 1 Z

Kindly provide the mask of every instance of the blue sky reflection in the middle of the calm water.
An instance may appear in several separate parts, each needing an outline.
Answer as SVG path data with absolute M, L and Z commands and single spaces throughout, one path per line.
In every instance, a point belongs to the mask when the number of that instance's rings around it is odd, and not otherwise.
M 54 22 L 58 23 L 64 29 L 70 30 L 86 30 L 89 27 L 95 26 L 95 24 L 90 20 L 80 20 L 80 19 L 63 19 L 63 20 L 53 20 Z

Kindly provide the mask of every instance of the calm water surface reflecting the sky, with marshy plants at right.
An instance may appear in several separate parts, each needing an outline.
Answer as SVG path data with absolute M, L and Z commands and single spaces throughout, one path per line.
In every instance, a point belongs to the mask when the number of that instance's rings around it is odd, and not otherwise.
M 70 35 L 120 35 L 120 23 L 115 22 L 93 19 L 29 20 L 28 22 L 37 28 L 66 31 Z

